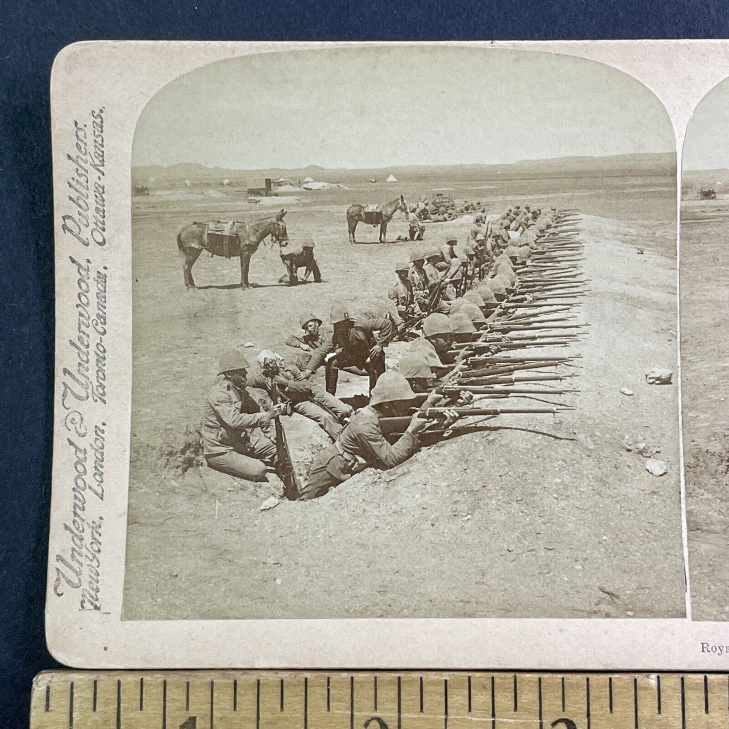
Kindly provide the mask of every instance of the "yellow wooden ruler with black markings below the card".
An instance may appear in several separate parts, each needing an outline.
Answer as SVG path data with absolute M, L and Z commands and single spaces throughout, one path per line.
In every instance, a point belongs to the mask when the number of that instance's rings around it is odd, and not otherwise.
M 31 729 L 714 729 L 729 674 L 46 671 Z

